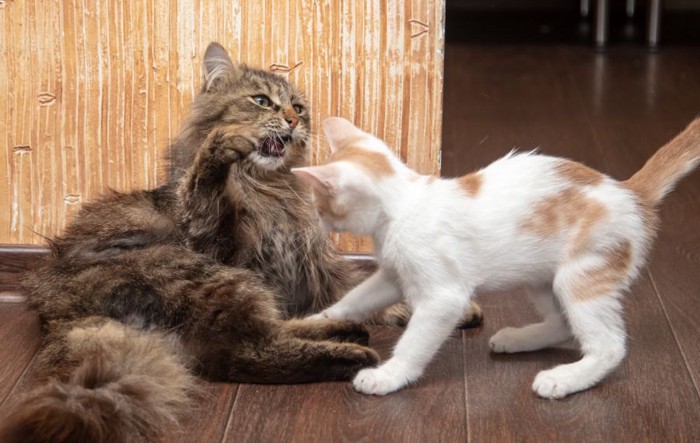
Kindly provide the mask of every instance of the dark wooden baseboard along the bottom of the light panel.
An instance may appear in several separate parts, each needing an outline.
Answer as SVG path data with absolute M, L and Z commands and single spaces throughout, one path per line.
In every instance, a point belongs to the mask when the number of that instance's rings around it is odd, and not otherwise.
M 0 303 L 17 303 L 24 300 L 22 287 L 19 284 L 20 275 L 31 269 L 48 253 L 49 250 L 45 246 L 0 244 Z M 376 266 L 370 255 L 346 254 L 345 256 L 368 269 Z

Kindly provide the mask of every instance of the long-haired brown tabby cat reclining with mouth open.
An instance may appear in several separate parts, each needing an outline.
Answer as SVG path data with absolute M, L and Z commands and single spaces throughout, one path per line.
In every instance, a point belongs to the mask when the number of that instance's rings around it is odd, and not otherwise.
M 47 380 L 4 417 L 0 440 L 153 441 L 183 411 L 192 371 L 294 383 L 374 365 L 363 327 L 292 319 L 365 274 L 290 172 L 309 132 L 295 88 L 212 43 L 168 181 L 85 205 L 24 279 Z

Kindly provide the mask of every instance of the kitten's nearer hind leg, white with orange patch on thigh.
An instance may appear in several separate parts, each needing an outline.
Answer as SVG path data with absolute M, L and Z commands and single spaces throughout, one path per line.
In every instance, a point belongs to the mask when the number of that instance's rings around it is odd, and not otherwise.
M 589 257 L 587 270 L 579 262 L 561 269 L 554 288 L 581 344 L 583 358 L 575 363 L 556 366 L 537 374 L 533 390 L 546 398 L 562 398 L 591 388 L 625 356 L 625 328 L 620 291 L 627 274 L 619 275 L 605 267 L 605 259 Z M 623 275 L 624 274 L 624 275 Z

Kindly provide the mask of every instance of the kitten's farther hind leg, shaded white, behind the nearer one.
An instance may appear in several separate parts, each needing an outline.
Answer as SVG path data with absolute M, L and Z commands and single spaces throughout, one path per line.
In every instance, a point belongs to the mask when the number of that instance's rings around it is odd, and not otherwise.
M 551 286 L 528 288 L 527 294 L 543 316 L 543 321 L 521 328 L 507 327 L 496 332 L 489 340 L 493 352 L 537 351 L 571 338 L 569 326 Z

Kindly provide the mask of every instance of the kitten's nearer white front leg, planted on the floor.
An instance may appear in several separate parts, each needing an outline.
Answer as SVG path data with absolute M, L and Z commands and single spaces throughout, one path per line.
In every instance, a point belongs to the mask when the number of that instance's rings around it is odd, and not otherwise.
M 416 381 L 459 324 L 468 303 L 464 292 L 445 290 L 415 304 L 391 359 L 378 368 L 360 371 L 353 380 L 355 390 L 386 395 Z

